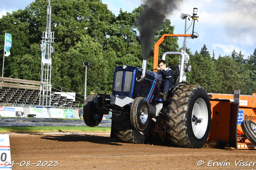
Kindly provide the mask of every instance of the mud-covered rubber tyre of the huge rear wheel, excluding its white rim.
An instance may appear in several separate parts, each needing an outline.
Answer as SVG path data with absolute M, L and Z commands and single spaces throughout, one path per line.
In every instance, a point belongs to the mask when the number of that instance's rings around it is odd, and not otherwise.
M 188 136 L 188 109 L 191 102 L 192 96 L 198 90 L 203 90 L 206 95 L 207 91 L 203 87 L 197 85 L 180 85 L 179 88 L 176 88 L 172 93 L 172 99 L 168 106 L 169 112 L 167 113 L 168 121 L 168 136 L 170 141 L 179 147 L 187 148 L 198 148 L 202 147 L 203 144 L 195 144 L 191 141 L 191 138 Z M 208 97 L 208 95 L 207 95 Z M 209 97 L 208 97 L 209 98 Z M 210 103 L 210 101 L 209 101 Z M 208 129 L 210 131 L 210 129 Z M 207 131 L 206 131 L 207 133 Z M 208 136 L 207 136 L 208 137 Z M 207 138 L 206 138 L 207 139 Z

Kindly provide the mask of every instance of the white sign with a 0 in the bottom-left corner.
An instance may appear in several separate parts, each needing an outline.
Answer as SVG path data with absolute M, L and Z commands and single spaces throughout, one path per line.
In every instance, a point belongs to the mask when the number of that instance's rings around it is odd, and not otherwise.
M 12 169 L 9 135 L 0 135 L 0 169 Z

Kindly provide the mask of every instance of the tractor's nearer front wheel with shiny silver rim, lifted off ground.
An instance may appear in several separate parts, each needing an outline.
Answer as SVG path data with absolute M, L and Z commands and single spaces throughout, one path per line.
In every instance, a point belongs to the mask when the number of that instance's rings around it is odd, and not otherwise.
M 134 130 L 143 131 L 149 121 L 148 101 L 143 97 L 135 98 L 132 102 L 130 119 Z

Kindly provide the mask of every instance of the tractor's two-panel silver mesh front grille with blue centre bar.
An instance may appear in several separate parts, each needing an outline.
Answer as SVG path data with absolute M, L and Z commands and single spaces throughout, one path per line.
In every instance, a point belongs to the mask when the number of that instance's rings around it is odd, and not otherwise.
M 132 85 L 132 72 L 131 71 L 117 71 L 115 80 L 116 92 L 130 92 Z

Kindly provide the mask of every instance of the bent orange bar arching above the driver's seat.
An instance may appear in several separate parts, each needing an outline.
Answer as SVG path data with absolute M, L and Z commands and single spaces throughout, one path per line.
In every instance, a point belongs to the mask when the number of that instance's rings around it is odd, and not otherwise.
M 159 45 L 166 39 L 166 37 L 191 37 L 191 34 L 164 34 L 156 43 L 154 47 L 154 64 L 153 69 L 157 68 Z M 155 70 L 157 71 L 157 70 Z

